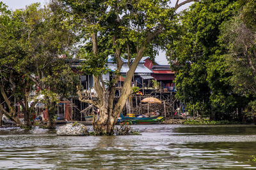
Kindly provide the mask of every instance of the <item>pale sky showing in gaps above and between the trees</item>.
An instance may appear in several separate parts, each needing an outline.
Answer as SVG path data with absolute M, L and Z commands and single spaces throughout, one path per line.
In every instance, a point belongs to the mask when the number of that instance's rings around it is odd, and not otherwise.
M 32 3 L 41 3 L 42 5 L 44 5 L 47 2 L 49 2 L 48 0 L 0 0 L 0 1 L 2 1 L 4 4 L 9 6 L 10 10 L 25 8 L 26 6 L 28 6 L 29 4 L 32 4 Z M 173 6 L 174 6 L 176 0 L 171 0 L 171 1 L 172 1 Z M 182 1 L 180 1 L 180 2 L 182 2 Z M 181 8 L 179 8 L 178 11 L 181 11 L 181 10 L 184 10 L 184 9 L 188 8 L 188 6 L 190 4 L 191 3 L 188 3 L 184 6 L 182 6 Z M 163 51 L 159 51 L 159 55 L 156 56 L 155 60 L 159 64 L 168 64 L 168 60 L 166 59 L 165 52 L 163 52 Z

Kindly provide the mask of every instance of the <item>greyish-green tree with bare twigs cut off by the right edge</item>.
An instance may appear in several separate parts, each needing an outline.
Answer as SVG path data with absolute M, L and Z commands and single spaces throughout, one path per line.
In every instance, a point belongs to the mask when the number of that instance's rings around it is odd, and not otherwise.
M 226 22 L 220 42 L 227 48 L 226 63 L 232 73 L 231 83 L 237 94 L 250 99 L 253 115 L 256 110 L 256 1 L 241 1 L 239 14 Z

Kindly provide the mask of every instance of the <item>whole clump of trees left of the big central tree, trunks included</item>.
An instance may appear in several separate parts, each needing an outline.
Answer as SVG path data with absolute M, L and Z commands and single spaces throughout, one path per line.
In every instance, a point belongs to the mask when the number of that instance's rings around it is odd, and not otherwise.
M 20 124 L 10 103 L 11 96 L 15 96 L 23 108 L 25 120 L 29 120 L 33 105 L 29 108 L 28 98 L 31 90 L 35 90 L 36 96 L 44 96 L 40 100 L 49 113 L 47 127 L 54 127 L 56 102 L 74 92 L 72 88 L 76 89 L 77 76 L 62 59 L 71 54 L 70 48 L 74 48 L 74 33 L 61 25 L 65 22 L 63 15 L 47 6 L 40 8 L 38 3 L 24 10 L 8 11 L 3 21 L 1 73 L 4 74 L 1 78 L 5 84 L 1 85 L 1 94 L 8 110 L 1 108 L 6 114 L 10 112 L 10 117 Z M 33 101 L 36 102 L 36 98 L 39 99 L 35 97 Z M 28 122 L 28 125 L 31 124 Z

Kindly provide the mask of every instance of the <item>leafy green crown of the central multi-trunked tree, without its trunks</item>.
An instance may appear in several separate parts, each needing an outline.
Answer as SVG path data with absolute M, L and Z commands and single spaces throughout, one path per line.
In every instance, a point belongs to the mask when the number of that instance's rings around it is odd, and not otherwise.
M 83 71 L 88 74 L 105 74 L 108 57 L 135 58 L 138 49 L 145 46 L 145 54 L 155 56 L 157 47 L 173 31 L 177 15 L 168 8 L 168 1 L 70 1 L 55 0 L 61 13 L 72 18 L 70 24 L 84 45 L 77 57 L 86 59 Z M 90 18 L 88 20 L 87 18 Z M 157 31 L 158 30 L 158 31 Z M 97 49 L 93 49 L 92 34 L 97 34 Z M 148 34 L 152 38 L 148 41 Z M 97 50 L 95 53 L 94 50 Z M 129 50 L 129 52 L 128 52 Z M 117 60 L 114 60 L 117 62 Z

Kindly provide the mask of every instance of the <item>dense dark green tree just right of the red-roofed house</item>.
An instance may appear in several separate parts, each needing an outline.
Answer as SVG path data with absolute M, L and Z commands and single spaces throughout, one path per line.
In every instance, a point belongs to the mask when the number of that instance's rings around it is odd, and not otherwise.
M 190 113 L 198 111 L 212 119 L 228 118 L 239 97 L 226 71 L 225 49 L 218 37 L 221 25 L 237 11 L 237 1 L 204 0 L 180 17 L 180 36 L 170 43 L 168 55 L 177 71 L 177 97 Z

